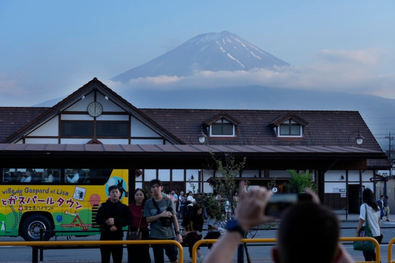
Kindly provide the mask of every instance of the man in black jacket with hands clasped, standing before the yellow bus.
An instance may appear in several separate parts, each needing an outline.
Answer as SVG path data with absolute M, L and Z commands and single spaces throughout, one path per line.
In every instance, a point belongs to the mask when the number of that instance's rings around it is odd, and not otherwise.
M 102 203 L 96 215 L 96 223 L 100 225 L 100 240 L 122 240 L 122 226 L 130 223 L 131 216 L 125 204 L 119 201 L 120 191 L 118 186 L 108 188 L 110 200 Z M 100 246 L 102 263 L 109 263 L 111 254 L 114 263 L 122 262 L 122 245 Z

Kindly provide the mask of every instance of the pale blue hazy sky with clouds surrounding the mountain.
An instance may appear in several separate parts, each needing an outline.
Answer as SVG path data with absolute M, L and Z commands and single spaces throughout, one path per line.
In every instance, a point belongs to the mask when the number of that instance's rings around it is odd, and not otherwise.
M 224 30 L 292 67 L 141 82 L 177 88 L 243 75 L 253 84 L 395 99 L 394 11 L 394 0 L 1 0 L 0 106 L 66 96 L 95 76 L 119 92 L 125 87 L 109 78 Z

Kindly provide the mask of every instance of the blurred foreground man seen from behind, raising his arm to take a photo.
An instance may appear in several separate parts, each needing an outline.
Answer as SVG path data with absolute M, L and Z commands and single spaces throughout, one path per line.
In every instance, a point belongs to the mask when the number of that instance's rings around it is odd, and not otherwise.
M 290 206 L 281 215 L 277 246 L 272 250 L 273 261 L 354 263 L 344 247 L 338 243 L 340 228 L 336 215 L 319 204 L 318 196 L 313 191 L 306 189 L 306 193 L 312 195 L 312 201 Z M 266 188 L 253 188 L 245 193 L 245 182 L 240 182 L 236 220 L 228 222 L 226 233 L 213 245 L 205 263 L 231 262 L 245 232 L 274 219 L 264 213 L 272 194 Z M 306 248 L 314 253 L 304 253 Z

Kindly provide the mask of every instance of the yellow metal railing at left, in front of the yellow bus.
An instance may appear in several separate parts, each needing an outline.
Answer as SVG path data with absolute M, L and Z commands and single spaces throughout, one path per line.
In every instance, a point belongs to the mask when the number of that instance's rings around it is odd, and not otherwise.
M 0 246 L 83 246 L 83 245 L 148 245 L 172 244 L 178 247 L 179 262 L 184 262 L 184 250 L 175 240 L 86 240 L 86 241 L 2 241 Z

